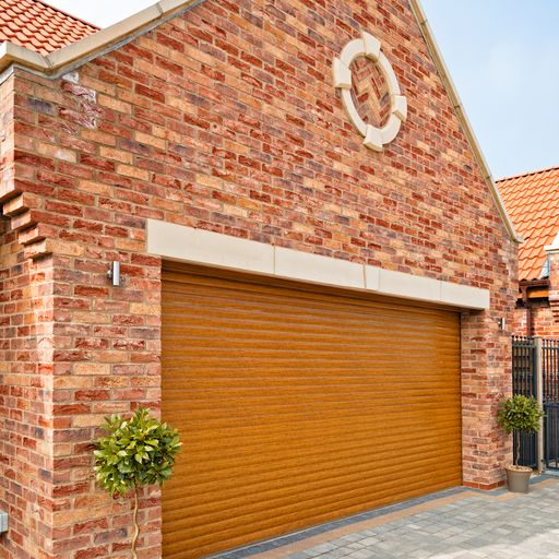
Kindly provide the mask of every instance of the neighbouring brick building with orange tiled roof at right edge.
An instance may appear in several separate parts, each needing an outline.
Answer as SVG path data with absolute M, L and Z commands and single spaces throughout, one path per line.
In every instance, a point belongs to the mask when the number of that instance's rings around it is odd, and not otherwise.
M 519 299 L 512 332 L 559 337 L 559 168 L 498 182 L 519 248 Z

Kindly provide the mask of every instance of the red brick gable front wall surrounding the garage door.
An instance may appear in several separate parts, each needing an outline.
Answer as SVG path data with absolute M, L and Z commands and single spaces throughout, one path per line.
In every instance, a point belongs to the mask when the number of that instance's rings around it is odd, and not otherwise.
M 382 153 L 362 147 L 332 86 L 332 59 L 360 28 L 382 41 L 408 99 Z M 48 367 L 28 354 L 29 382 L 48 383 L 45 416 L 26 424 L 48 424 L 45 443 L 33 437 L 51 457 L 39 483 L 48 512 L 40 535 L 17 524 L 0 538 L 8 557 L 128 546 L 129 506 L 95 488 L 91 441 L 104 414 L 159 403 L 160 262 L 145 253 L 147 217 L 490 289 L 491 310 L 462 321 L 464 480 L 502 481 L 510 448 L 495 412 L 510 349 L 497 318 L 512 320 L 515 247 L 406 1 L 209 0 L 67 78 L 16 71 L 15 181 L 1 187 L 9 226 L 36 259 L 24 265 L 48 272 L 26 276 L 31 289 L 52 309 L 51 331 L 35 338 L 51 348 Z M 111 260 L 123 287 L 107 283 Z M 34 514 L 33 497 L 13 510 Z M 159 514 L 154 490 L 143 557 L 159 557 Z

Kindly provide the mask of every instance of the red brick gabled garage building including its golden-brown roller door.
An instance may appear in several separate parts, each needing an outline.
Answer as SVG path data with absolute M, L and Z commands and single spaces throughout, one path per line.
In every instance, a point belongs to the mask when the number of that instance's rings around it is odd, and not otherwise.
M 139 403 L 185 441 L 145 558 L 500 485 L 519 239 L 416 0 L 55 32 L 0 50 L 0 555 L 127 555 L 92 440 Z

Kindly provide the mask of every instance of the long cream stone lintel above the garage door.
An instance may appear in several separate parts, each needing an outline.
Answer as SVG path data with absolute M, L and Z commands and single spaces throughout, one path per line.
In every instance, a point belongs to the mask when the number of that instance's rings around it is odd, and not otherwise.
M 345 287 L 462 309 L 489 308 L 488 289 L 404 274 L 155 219 L 147 219 L 147 252 L 193 264 Z

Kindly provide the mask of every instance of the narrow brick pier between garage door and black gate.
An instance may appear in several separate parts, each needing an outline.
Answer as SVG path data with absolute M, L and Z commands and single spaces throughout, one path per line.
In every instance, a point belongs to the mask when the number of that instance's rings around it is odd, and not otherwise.
M 511 338 L 495 311 L 462 316 L 463 481 L 491 489 L 504 483 L 510 438 L 497 424 L 499 402 L 512 393 Z

